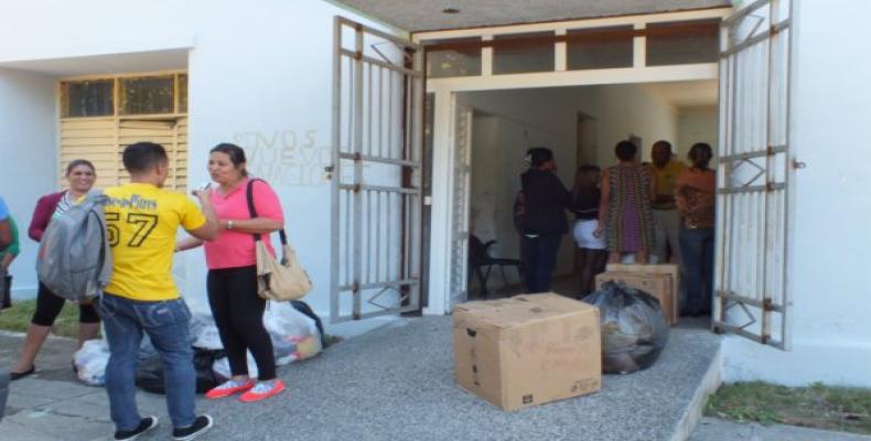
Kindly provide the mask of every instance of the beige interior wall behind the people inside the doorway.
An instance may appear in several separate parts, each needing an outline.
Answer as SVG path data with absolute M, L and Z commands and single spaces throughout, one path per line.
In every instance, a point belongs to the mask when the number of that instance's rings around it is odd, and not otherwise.
M 469 104 L 478 112 L 473 138 L 472 232 L 483 241 L 496 239 L 493 255 L 498 257 L 519 257 L 512 208 L 528 148 L 550 147 L 557 174 L 571 189 L 578 165 L 579 112 L 593 118 L 587 129 L 594 138 L 584 143 L 594 147 L 590 155 L 600 166 L 615 163 L 613 147 L 630 135 L 643 139 L 645 158 L 655 140 L 677 142 L 677 110 L 637 85 L 471 93 Z M 572 273 L 573 262 L 574 241 L 568 234 L 556 275 Z

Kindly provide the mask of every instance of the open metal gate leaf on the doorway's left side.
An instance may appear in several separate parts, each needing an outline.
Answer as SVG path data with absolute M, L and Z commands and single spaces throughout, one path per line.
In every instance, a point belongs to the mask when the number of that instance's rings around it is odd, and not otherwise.
M 330 320 L 420 309 L 420 47 L 336 17 Z

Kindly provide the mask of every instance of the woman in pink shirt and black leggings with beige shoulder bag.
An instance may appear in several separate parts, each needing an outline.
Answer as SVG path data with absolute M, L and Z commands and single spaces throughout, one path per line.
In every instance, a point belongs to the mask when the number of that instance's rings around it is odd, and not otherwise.
M 264 243 L 275 256 L 268 235 L 283 227 L 284 215 L 269 184 L 248 176 L 245 150 L 240 147 L 222 143 L 212 149 L 208 172 L 218 184 L 212 191 L 212 203 L 224 229 L 214 241 L 191 238 L 178 246 L 178 250 L 185 250 L 204 245 L 208 304 L 233 374 L 229 380 L 207 391 L 206 398 L 244 392 L 241 401 L 258 401 L 281 392 L 284 384 L 276 377 L 272 342 L 264 327 L 266 300 L 257 294 L 254 235 L 265 235 Z M 252 185 L 255 218 L 248 211 L 248 185 Z M 257 362 L 257 381 L 248 376 L 247 351 Z

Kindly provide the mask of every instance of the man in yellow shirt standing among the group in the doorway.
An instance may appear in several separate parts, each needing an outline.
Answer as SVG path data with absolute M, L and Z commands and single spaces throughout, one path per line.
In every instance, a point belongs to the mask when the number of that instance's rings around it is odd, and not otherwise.
M 656 141 L 650 150 L 650 159 L 655 195 L 650 208 L 656 243 L 653 258 L 656 263 L 674 261 L 680 265 L 680 215 L 675 205 L 675 182 L 687 170 L 687 165 L 675 158 L 668 141 Z

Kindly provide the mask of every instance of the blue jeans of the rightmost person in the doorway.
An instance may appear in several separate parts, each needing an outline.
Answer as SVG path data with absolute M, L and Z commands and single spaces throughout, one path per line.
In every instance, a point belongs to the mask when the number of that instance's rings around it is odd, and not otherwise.
M 680 254 L 687 290 L 685 313 L 708 312 L 713 293 L 713 228 L 681 228 Z

